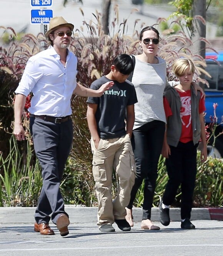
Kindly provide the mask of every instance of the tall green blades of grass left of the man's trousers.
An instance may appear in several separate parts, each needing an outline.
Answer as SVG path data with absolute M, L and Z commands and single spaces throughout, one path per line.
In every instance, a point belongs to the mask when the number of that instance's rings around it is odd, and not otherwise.
M 18 144 L 23 144 L 23 153 Z M 0 154 L 0 206 L 37 205 L 42 174 L 38 161 L 32 160 L 33 153 L 28 141 L 17 142 L 12 136 L 7 158 Z

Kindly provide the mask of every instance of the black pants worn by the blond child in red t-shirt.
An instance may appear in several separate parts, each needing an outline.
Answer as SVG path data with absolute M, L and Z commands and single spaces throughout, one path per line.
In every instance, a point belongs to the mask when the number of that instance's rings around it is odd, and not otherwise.
M 196 180 L 197 144 L 193 141 L 179 142 L 177 147 L 170 146 L 171 155 L 166 159 L 169 180 L 163 194 L 163 203 L 171 205 L 181 184 L 181 219 L 190 219 L 193 191 Z

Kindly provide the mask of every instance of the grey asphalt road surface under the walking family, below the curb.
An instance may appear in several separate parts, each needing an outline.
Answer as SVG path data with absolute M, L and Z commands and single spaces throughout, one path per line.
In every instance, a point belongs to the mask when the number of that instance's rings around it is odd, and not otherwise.
M 210 256 L 223 255 L 223 222 L 194 220 L 196 229 L 182 230 L 180 222 L 171 222 L 160 231 L 144 231 L 136 222 L 130 232 L 116 229 L 102 233 L 95 223 L 72 223 L 70 234 L 61 237 L 55 225 L 55 236 L 42 236 L 32 224 L 1 224 L 0 255 L 11 256 Z

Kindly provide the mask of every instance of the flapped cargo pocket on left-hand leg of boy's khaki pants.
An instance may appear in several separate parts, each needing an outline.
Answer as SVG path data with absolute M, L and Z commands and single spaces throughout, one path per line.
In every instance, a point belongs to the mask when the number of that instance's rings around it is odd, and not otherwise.
M 93 159 L 92 173 L 95 181 L 107 181 L 105 159 Z

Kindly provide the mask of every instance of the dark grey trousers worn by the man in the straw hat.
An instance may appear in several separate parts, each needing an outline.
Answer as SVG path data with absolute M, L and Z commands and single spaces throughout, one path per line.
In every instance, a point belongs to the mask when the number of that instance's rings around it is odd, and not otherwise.
M 57 223 L 60 214 L 65 213 L 60 182 L 70 153 L 73 138 L 72 120 L 55 124 L 30 117 L 30 131 L 37 158 L 42 167 L 43 186 L 35 211 L 38 224 L 50 221 Z

